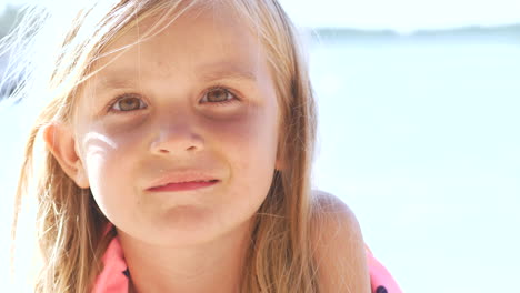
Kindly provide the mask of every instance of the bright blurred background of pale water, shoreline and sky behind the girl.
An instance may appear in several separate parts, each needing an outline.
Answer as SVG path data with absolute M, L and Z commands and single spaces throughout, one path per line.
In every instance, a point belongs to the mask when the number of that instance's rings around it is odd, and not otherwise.
M 307 32 L 314 188 L 404 292 L 518 292 L 520 1 L 281 2 Z M 0 34 L 19 3 L 0 2 Z M 2 253 L 27 117 L 0 102 Z

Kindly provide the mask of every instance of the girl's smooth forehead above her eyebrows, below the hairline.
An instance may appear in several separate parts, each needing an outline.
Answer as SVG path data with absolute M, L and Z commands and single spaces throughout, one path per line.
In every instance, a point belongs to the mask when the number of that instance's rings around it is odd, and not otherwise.
M 232 10 L 190 10 L 178 18 L 150 16 L 121 32 L 101 52 L 100 73 L 171 73 L 171 70 L 254 79 L 267 69 L 267 55 L 250 26 Z M 193 70 L 194 69 L 194 70 Z M 213 73 L 211 73 L 213 72 Z

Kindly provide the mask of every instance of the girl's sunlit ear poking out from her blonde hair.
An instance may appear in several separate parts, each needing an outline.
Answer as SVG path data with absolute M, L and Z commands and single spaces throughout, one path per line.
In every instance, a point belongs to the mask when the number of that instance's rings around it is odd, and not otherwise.
M 89 188 L 89 179 L 76 150 L 76 139 L 71 129 L 62 123 L 48 124 L 43 128 L 43 140 L 63 172 L 80 189 Z

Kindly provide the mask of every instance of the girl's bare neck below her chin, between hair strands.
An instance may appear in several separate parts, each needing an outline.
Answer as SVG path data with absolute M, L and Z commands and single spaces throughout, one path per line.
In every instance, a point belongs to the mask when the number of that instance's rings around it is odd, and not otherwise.
M 119 233 L 130 271 L 130 291 L 239 292 L 250 245 L 249 224 L 186 249 L 153 246 Z

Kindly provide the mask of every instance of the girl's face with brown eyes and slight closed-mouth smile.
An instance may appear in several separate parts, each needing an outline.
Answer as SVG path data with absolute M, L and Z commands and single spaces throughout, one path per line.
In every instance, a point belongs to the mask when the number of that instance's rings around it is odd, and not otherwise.
M 154 21 L 97 63 L 78 102 L 78 154 L 120 231 L 154 244 L 206 242 L 247 226 L 269 191 L 273 81 L 261 43 L 232 12 L 188 13 L 134 44 Z

